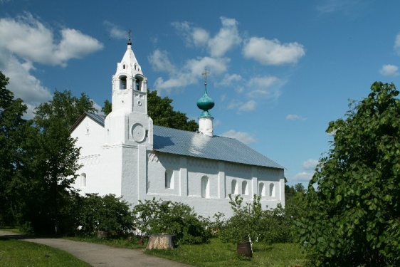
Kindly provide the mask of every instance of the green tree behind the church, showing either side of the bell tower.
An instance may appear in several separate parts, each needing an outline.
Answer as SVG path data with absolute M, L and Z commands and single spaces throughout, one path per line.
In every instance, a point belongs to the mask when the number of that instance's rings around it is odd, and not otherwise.
M 157 90 L 147 90 L 147 113 L 152 118 L 154 125 L 196 132 L 199 125 L 194 120 L 189 120 L 185 113 L 175 111 L 172 107 L 172 99 L 161 98 Z M 105 100 L 102 112 L 108 115 L 111 112 L 112 104 Z

